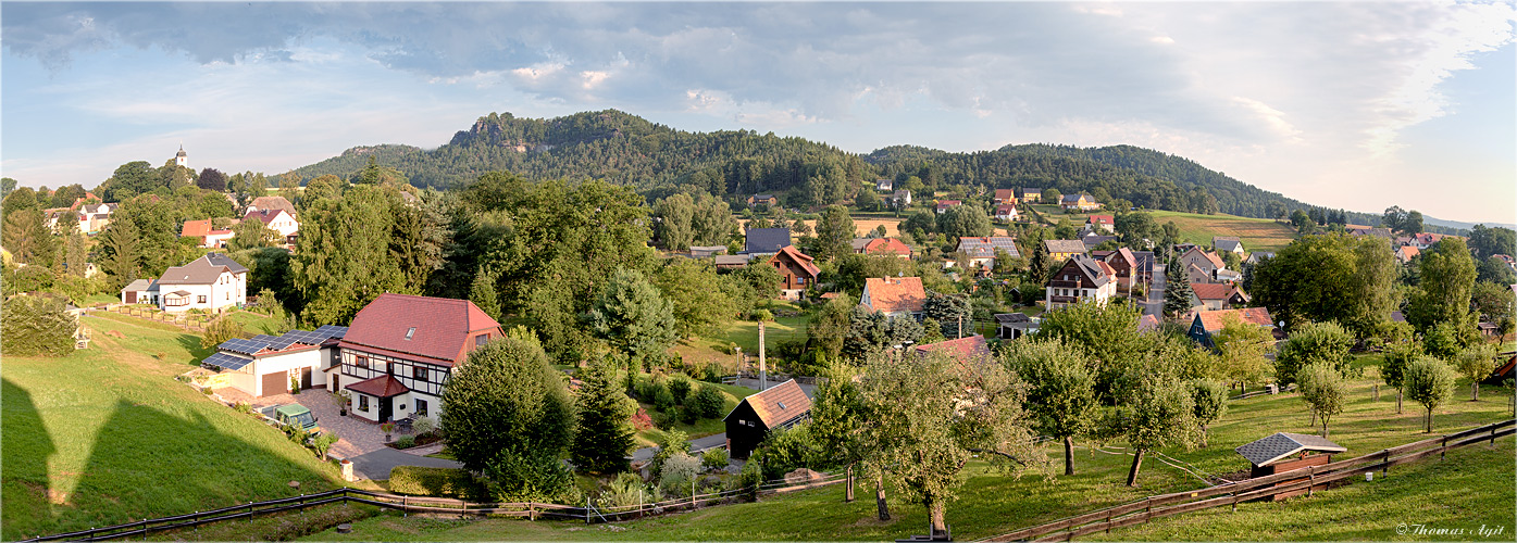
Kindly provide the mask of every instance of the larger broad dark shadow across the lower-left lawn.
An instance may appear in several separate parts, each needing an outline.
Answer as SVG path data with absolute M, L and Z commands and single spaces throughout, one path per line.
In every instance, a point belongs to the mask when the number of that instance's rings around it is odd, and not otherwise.
M 190 419 L 118 400 L 70 496 L 73 507 L 39 528 L 86 529 L 338 485 L 334 473 L 320 472 L 314 455 L 308 466 L 281 455 L 279 449 L 293 444 L 272 428 L 232 423 L 234 435 L 193 408 Z M 290 481 L 299 481 L 300 487 L 291 488 Z

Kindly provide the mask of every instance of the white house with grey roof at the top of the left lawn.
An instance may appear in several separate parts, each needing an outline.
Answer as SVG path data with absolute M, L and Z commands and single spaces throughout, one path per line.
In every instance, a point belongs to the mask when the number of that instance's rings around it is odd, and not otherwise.
M 174 265 L 158 281 L 137 279 L 121 288 L 121 303 L 153 303 L 168 312 L 220 311 L 247 303 L 247 268 L 221 253 Z

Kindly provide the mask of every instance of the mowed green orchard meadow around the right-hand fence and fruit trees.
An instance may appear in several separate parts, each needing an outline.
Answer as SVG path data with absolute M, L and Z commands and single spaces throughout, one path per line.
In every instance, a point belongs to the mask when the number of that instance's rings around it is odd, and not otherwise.
M 1349 449 L 1340 458 L 1371 454 L 1429 437 L 1421 432 L 1421 406 L 1406 403 L 1396 414 L 1394 391 L 1371 400 L 1379 382 L 1376 356 L 1352 381 L 1346 413 L 1329 426 L 1330 438 Z M 1487 387 L 1481 402 L 1468 402 L 1468 381 L 1458 384 L 1455 397 L 1435 411 L 1435 434 L 1497 422 L 1511 416 L 1511 396 Z M 1315 432 L 1300 394 L 1261 396 L 1235 400 L 1212 425 L 1204 449 L 1179 447 L 1161 452 L 1192 470 L 1224 475 L 1245 470 L 1248 463 L 1233 452 L 1244 443 L 1274 432 Z M 1124 485 L 1127 457 L 1123 443 L 1104 450 L 1076 450 L 1074 476 L 1015 476 L 981 461 L 963 472 L 959 499 L 948 505 L 948 523 L 959 540 L 991 537 L 1065 516 L 1115 505 L 1150 494 L 1200 488 L 1204 484 L 1150 457 L 1139 473 L 1139 487 Z M 1050 470 L 1062 473 L 1062 449 L 1048 447 Z M 1217 508 L 1162 519 L 1153 525 L 1113 531 L 1112 540 L 1467 540 L 1461 535 L 1397 535 L 1400 522 L 1465 526 L 1505 523 L 1512 529 L 1512 438 L 1449 452 L 1447 460 L 1426 460 L 1393 469 L 1374 482 L 1350 485 L 1280 504 L 1245 504 L 1238 513 Z M 693 513 L 617 523 L 623 531 L 578 522 L 525 522 L 516 519 L 438 520 L 382 516 L 353 523 L 352 534 L 320 532 L 313 540 L 892 540 L 925 531 L 922 507 L 904 504 L 887 488 L 892 520 L 874 516 L 874 493 L 860 485 L 857 501 L 843 502 L 843 488 L 799 491 L 765 497 L 755 504 L 705 508 Z M 1094 537 L 1092 537 L 1094 538 Z

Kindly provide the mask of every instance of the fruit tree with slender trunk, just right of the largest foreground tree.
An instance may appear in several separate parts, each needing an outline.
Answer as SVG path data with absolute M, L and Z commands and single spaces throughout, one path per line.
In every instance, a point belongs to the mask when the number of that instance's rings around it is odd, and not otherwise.
M 1013 341 L 1004 350 L 1007 372 L 1027 382 L 1027 410 L 1042 435 L 1063 440 L 1063 475 L 1074 475 L 1074 438 L 1100 417 L 1095 376 L 1085 349 L 1062 341 Z

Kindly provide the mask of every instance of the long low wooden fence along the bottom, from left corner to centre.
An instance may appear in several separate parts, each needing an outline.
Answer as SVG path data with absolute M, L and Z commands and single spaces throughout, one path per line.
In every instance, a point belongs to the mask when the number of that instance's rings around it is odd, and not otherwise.
M 831 484 L 846 481 L 843 473 L 827 473 L 824 478 L 806 482 L 786 482 L 786 481 L 771 481 L 758 485 L 758 496 L 790 493 L 807 488 L 821 488 Z M 126 537 L 146 537 L 152 532 L 196 528 L 200 525 L 208 525 L 214 522 L 250 519 L 253 516 L 305 510 L 328 504 L 366 504 L 375 505 L 387 510 L 425 514 L 440 514 L 440 516 L 495 516 L 495 517 L 526 517 L 529 520 L 537 519 L 558 519 L 558 520 L 583 520 L 584 523 L 601 523 L 614 522 L 625 519 L 640 519 L 643 516 L 657 516 L 674 511 L 695 510 L 707 505 L 719 505 L 736 502 L 749 488 L 725 490 L 719 493 L 695 494 L 690 497 L 667 499 L 654 504 L 640 504 L 630 507 L 596 507 L 592 502 L 586 502 L 586 507 L 573 505 L 558 505 L 558 504 L 537 504 L 537 502 L 505 502 L 505 504 L 475 504 L 461 499 L 449 497 L 429 497 L 429 496 L 405 496 L 405 494 L 390 494 L 370 490 L 358 488 L 337 488 L 328 490 L 316 494 L 302 494 L 296 497 L 270 499 L 262 502 L 247 502 L 243 505 L 225 507 L 212 511 L 196 511 L 191 514 L 179 514 L 161 519 L 146 519 L 138 522 L 127 522 L 115 526 L 90 528 L 67 534 L 41 535 L 21 543 L 33 541 L 105 541 L 114 538 Z

